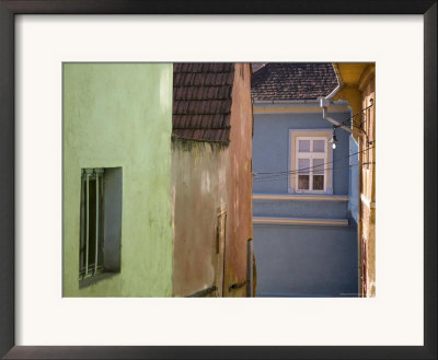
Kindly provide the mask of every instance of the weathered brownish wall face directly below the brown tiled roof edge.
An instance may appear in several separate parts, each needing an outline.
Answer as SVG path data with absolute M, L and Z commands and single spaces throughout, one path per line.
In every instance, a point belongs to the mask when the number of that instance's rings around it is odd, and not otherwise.
M 173 295 L 220 288 L 218 210 L 227 207 L 229 149 L 206 141 L 172 140 Z M 223 266 L 222 266 L 223 267 Z M 209 293 L 218 295 L 219 292 Z

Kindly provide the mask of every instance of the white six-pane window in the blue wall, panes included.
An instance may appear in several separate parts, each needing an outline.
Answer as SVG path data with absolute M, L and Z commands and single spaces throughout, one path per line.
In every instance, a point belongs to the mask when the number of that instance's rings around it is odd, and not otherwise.
M 296 191 L 325 193 L 327 184 L 327 139 L 297 137 L 295 149 Z

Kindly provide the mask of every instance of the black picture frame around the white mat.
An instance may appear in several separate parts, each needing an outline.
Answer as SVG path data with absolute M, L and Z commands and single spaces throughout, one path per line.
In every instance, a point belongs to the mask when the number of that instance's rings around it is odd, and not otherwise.
M 14 16 L 16 14 L 423 14 L 424 346 L 15 346 Z M 1 0 L 0 356 L 4 359 L 437 359 L 437 0 Z

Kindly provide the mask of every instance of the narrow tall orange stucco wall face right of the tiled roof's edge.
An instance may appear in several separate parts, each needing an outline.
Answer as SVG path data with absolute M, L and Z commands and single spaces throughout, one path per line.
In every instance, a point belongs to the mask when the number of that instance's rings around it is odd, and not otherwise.
M 228 217 L 226 242 L 226 297 L 245 297 L 246 246 L 252 239 L 252 131 L 251 67 L 237 63 L 231 105 Z

